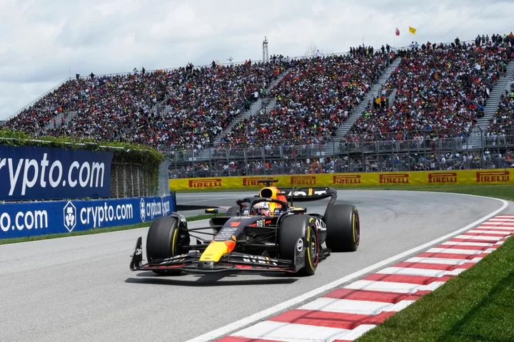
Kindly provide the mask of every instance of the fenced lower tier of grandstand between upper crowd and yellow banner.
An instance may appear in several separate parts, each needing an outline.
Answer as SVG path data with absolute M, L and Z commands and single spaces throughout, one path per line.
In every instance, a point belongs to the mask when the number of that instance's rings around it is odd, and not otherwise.
M 368 137 L 373 138 L 373 137 Z M 321 172 L 402 172 L 514 167 L 514 135 L 482 135 L 480 148 L 468 137 L 309 143 L 276 141 L 264 146 L 220 146 L 208 160 L 191 150 L 166 153 L 169 177 L 298 175 Z M 337 152 L 328 155 L 327 144 Z M 415 161 L 414 161 L 415 160 Z

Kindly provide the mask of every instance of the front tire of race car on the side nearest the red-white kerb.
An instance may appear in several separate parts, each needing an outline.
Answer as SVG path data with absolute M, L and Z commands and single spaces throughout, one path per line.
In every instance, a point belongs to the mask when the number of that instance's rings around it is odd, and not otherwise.
M 278 229 L 279 258 L 294 260 L 299 239 L 305 249 L 305 266 L 298 274 L 311 276 L 316 272 L 320 254 L 316 219 L 306 215 L 284 217 Z

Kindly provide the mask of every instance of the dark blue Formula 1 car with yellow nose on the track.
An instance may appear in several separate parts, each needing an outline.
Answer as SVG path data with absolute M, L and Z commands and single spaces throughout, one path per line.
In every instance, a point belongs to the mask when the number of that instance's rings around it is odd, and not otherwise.
M 256 197 L 238 199 L 222 216 L 218 209 L 210 227 L 188 228 L 183 215 L 158 217 L 146 237 L 147 263 L 143 264 L 142 239 L 138 238 L 130 269 L 156 274 L 183 272 L 269 272 L 311 275 L 318 262 L 331 252 L 356 251 L 361 225 L 351 204 L 334 204 L 336 190 L 329 187 L 296 189 L 266 184 Z M 331 198 L 324 214 L 306 214 L 294 202 Z M 199 237 L 198 233 L 205 237 Z M 196 244 L 191 240 L 196 239 Z M 326 247 L 322 247 L 326 242 Z

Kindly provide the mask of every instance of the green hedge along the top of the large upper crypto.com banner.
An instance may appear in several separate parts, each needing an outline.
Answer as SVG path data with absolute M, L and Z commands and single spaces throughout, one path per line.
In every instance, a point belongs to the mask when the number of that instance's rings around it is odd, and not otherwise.
M 34 138 L 19 130 L 2 128 L 0 144 L 11 146 L 41 146 L 67 149 L 114 152 L 113 162 L 127 162 L 143 165 L 145 172 L 151 175 L 152 187 L 158 185 L 158 167 L 164 160 L 164 155 L 150 147 L 126 142 L 97 142 L 91 139 L 74 139 L 64 137 Z

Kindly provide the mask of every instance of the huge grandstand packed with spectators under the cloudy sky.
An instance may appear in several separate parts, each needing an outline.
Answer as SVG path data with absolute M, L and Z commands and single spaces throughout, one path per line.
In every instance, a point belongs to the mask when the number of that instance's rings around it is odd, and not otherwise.
M 312 158 L 368 170 L 370 155 L 483 155 L 488 147 L 505 155 L 514 147 L 514 37 L 504 37 L 91 74 L 64 81 L 5 125 L 36 136 L 138 142 L 167 152 L 177 168 L 203 163 L 209 172 L 217 160 L 228 171 L 263 162 L 271 172 L 295 160 L 296 170 L 307 162 L 306 172 L 329 172 Z

